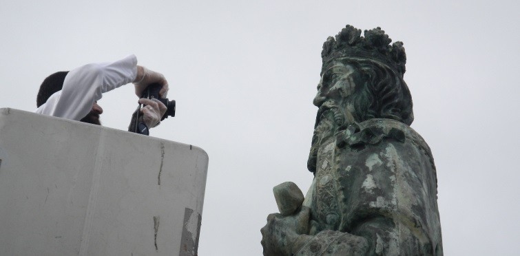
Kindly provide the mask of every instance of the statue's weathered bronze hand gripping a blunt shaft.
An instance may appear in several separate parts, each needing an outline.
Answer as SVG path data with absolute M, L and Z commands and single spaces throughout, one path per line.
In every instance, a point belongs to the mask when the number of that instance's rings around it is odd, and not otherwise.
M 260 229 L 264 255 L 291 255 L 291 249 L 300 235 L 309 233 L 311 210 L 302 206 L 300 211 L 290 216 L 271 213 L 267 224 Z

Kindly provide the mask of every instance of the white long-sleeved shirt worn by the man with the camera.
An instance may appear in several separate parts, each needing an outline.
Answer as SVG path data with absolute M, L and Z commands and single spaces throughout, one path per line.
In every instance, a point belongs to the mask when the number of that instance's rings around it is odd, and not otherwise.
M 92 63 L 71 70 L 61 91 L 50 96 L 36 113 L 81 120 L 102 94 L 135 80 L 137 58 L 127 56 L 113 63 Z

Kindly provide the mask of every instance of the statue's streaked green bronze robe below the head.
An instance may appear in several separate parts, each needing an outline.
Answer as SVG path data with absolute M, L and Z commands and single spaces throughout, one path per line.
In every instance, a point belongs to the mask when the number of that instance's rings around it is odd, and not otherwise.
M 304 206 L 311 231 L 295 255 L 442 255 L 433 157 L 402 122 L 371 119 L 322 142 Z

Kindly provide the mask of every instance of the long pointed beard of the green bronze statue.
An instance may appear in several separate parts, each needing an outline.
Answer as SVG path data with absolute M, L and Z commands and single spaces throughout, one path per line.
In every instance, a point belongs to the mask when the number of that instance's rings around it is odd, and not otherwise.
M 314 126 L 313 140 L 311 142 L 311 151 L 309 152 L 309 160 L 307 160 L 307 169 L 316 172 L 316 161 L 318 160 L 318 150 L 322 142 L 329 140 L 337 131 L 346 127 L 344 118 L 344 107 L 340 107 L 335 100 L 327 100 L 318 109 L 316 123 Z

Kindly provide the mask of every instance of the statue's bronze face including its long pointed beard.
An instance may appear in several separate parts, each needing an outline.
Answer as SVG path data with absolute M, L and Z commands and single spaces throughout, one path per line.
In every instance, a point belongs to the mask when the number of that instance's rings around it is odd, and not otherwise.
M 315 161 L 321 142 L 331 138 L 340 127 L 352 124 L 353 105 L 349 96 L 355 93 L 355 68 L 333 61 L 323 72 L 318 83 L 318 94 L 313 103 L 318 107 L 309 161 L 309 171 L 315 171 Z

